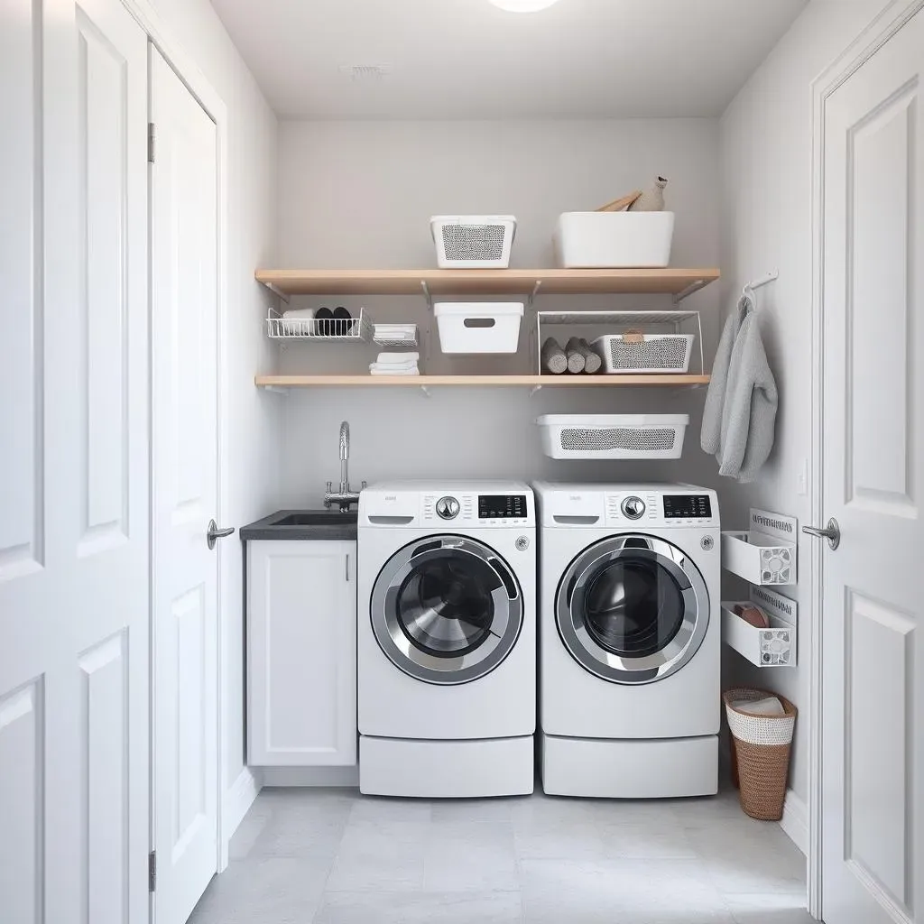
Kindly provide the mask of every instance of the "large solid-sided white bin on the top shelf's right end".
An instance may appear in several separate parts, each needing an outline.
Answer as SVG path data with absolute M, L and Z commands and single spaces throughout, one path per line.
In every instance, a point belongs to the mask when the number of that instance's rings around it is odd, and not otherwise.
M 673 239 L 673 212 L 565 212 L 555 256 L 565 269 L 667 266 Z

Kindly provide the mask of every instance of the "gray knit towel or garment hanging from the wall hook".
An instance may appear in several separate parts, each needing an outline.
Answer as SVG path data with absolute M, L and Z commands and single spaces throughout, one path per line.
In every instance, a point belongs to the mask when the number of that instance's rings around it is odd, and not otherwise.
M 700 444 L 719 474 L 753 481 L 773 448 L 779 395 L 746 296 L 725 322 L 703 411 Z

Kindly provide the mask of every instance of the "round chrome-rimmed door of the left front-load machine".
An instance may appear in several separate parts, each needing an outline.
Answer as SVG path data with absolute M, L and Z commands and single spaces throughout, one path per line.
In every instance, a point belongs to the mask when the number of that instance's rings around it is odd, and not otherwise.
M 490 546 L 461 536 L 405 546 L 372 589 L 372 630 L 383 652 L 429 683 L 488 674 L 513 649 L 522 617 L 510 567 Z

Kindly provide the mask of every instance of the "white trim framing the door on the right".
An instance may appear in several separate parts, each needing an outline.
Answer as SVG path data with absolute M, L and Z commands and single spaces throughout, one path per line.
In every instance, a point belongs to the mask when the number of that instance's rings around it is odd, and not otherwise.
M 812 323 L 811 355 L 811 510 L 813 522 L 824 516 L 824 419 L 822 408 L 824 298 L 824 116 L 828 98 L 862 67 L 881 46 L 924 8 L 924 0 L 892 0 L 879 16 L 857 36 L 833 63 L 812 82 Z M 824 573 L 823 546 L 813 542 L 808 580 L 812 621 L 811 659 L 808 665 L 808 913 L 822 919 L 821 876 L 823 868 L 822 773 L 823 773 L 823 678 L 824 678 Z M 788 794 L 787 794 L 788 801 Z M 784 829 L 785 830 L 785 829 Z M 787 833 L 789 833 L 787 831 Z M 790 834 L 792 837 L 792 834 Z M 793 838 L 795 840 L 795 838 Z

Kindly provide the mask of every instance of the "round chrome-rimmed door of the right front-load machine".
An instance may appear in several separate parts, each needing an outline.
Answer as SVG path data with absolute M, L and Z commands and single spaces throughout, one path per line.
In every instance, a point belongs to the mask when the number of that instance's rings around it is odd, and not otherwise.
M 710 602 L 699 569 L 674 545 L 620 536 L 568 566 L 556 602 L 565 648 L 590 673 L 643 684 L 674 674 L 699 650 Z

